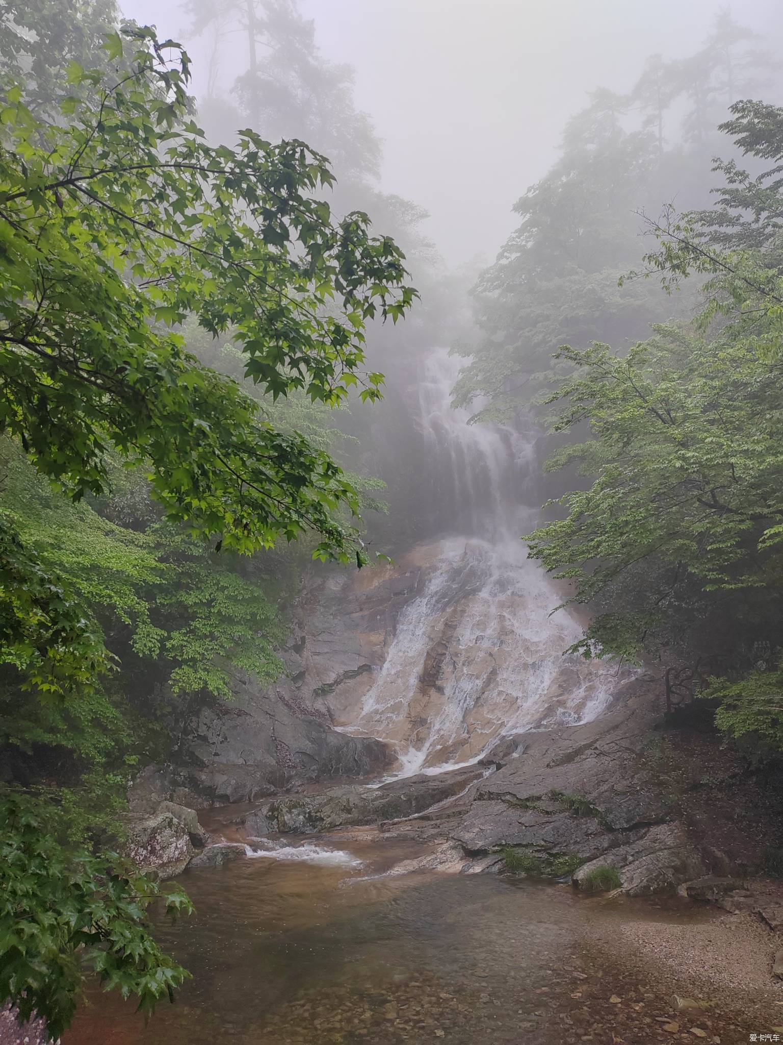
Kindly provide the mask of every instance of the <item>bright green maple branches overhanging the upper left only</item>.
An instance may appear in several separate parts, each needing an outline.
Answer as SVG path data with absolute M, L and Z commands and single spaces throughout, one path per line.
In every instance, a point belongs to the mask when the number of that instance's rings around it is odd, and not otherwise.
M 315 554 L 364 561 L 356 491 L 332 459 L 263 420 L 234 381 L 198 366 L 172 327 L 189 315 L 244 353 L 272 397 L 336 404 L 362 369 L 363 327 L 413 300 L 402 257 L 369 218 L 331 222 L 333 181 L 302 142 L 253 131 L 213 148 L 188 116 L 187 55 L 151 30 L 110 37 L 120 75 L 74 65 L 67 124 L 11 89 L 0 106 L 0 426 L 75 498 L 108 485 L 105 449 L 148 466 L 152 496 L 194 535 L 240 552 L 308 528 Z M 324 306 L 332 299 L 336 315 Z M 148 464 L 147 464 L 148 463 Z

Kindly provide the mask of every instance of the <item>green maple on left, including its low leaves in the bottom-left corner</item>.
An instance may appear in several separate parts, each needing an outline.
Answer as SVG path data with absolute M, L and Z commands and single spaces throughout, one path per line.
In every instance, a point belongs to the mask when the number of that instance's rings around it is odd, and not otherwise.
M 1 18 L 0 28 L 16 31 Z M 367 558 L 343 518 L 358 491 L 327 449 L 277 428 L 236 380 L 201 365 L 184 324 L 230 336 L 242 376 L 272 401 L 339 405 L 351 389 L 372 401 L 382 375 L 366 370 L 364 325 L 396 322 L 416 293 L 365 214 L 332 220 L 319 154 L 250 130 L 236 148 L 208 145 L 188 75 L 182 48 L 128 26 L 92 62 L 71 62 L 68 94 L 51 106 L 35 107 L 34 77 L 5 83 L 0 99 L 0 431 L 85 526 L 52 548 L 62 502 L 44 493 L 39 517 L 18 501 L 2 514 L 3 680 L 16 673 L 34 704 L 5 739 L 62 740 L 88 765 L 124 726 L 101 702 L 113 665 L 101 616 L 116 614 L 137 656 L 163 654 L 172 692 L 224 692 L 227 656 L 263 677 L 270 645 L 247 632 L 274 638 L 269 607 L 199 558 L 192 537 L 226 555 L 311 533 L 317 558 Z M 118 464 L 147 477 L 164 522 L 134 534 L 87 508 L 111 496 Z M 2 1000 L 41 1013 L 54 1036 L 86 963 L 144 1011 L 186 975 L 149 935 L 157 887 L 112 853 L 68 843 L 66 799 L 0 804 Z M 167 902 L 187 909 L 177 892 Z

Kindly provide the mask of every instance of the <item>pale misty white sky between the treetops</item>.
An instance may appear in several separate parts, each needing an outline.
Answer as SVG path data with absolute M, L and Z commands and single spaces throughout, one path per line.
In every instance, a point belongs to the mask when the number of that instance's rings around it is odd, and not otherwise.
M 126 15 L 181 39 L 179 0 L 120 0 Z M 303 0 L 327 57 L 356 69 L 356 100 L 384 142 L 382 187 L 430 212 L 447 261 L 497 253 L 511 207 L 554 159 L 566 118 L 601 85 L 626 90 L 647 55 L 694 50 L 720 0 Z M 733 14 L 781 53 L 782 0 Z M 243 68 L 243 67 L 242 67 Z M 230 55 L 224 84 L 237 73 Z M 778 100 L 778 99 L 769 99 Z

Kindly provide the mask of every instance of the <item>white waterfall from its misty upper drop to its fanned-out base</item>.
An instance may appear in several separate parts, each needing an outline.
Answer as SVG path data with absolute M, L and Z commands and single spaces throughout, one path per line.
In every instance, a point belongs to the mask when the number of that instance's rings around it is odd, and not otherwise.
M 470 424 L 450 391 L 460 361 L 431 352 L 419 384 L 423 436 L 444 531 L 423 549 L 419 590 L 397 621 L 385 663 L 347 732 L 396 745 L 397 775 L 480 759 L 500 737 L 585 722 L 606 706 L 615 669 L 564 656 L 580 635 L 520 534 L 533 512 L 515 500 L 532 443 L 508 427 Z

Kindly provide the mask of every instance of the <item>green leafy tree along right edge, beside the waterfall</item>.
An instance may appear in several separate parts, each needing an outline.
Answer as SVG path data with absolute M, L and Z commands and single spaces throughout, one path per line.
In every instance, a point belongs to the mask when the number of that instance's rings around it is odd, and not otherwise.
M 636 655 L 661 644 L 719 653 L 708 695 L 718 726 L 757 752 L 780 751 L 783 669 L 783 110 L 738 101 L 720 130 L 753 162 L 716 161 L 711 211 L 650 223 L 659 246 L 641 273 L 671 292 L 704 280 L 689 326 L 669 325 L 626 356 L 604 345 L 561 350 L 577 373 L 555 393 L 561 431 L 592 438 L 552 461 L 578 461 L 589 489 L 530 536 L 530 553 L 595 601 L 577 647 Z M 772 651 L 763 656 L 754 650 Z M 733 661 L 733 664 L 732 664 Z M 755 663 L 755 668 L 749 670 Z

